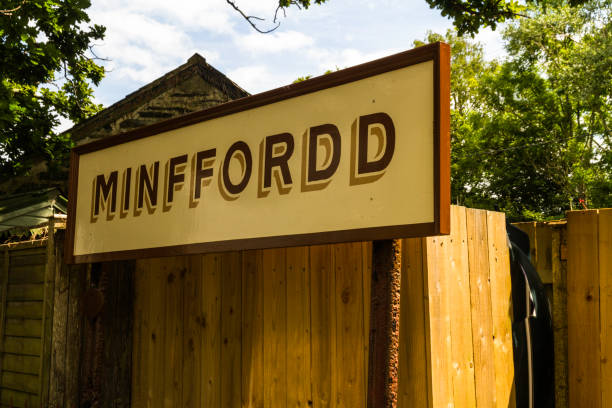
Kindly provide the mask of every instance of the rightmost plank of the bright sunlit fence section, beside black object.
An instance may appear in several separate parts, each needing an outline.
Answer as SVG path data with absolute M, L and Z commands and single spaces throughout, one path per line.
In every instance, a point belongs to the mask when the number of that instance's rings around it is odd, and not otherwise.
M 506 235 L 506 216 L 487 211 L 489 278 L 495 357 L 495 406 L 514 407 L 514 365 L 512 352 L 512 283 Z

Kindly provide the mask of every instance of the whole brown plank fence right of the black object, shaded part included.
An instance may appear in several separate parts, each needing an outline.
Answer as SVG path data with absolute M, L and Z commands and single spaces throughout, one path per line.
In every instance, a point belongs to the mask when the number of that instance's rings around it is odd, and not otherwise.
M 556 407 L 612 407 L 612 209 L 518 226 L 551 285 Z

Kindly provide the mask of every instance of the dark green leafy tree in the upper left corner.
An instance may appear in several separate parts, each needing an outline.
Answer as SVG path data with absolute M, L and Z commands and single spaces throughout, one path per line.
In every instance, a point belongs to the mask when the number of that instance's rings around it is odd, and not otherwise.
M 104 27 L 90 25 L 89 0 L 5 0 L 0 6 L 0 181 L 46 160 L 66 165 L 60 118 L 78 122 L 100 107 L 92 84 L 104 69 L 91 52 Z

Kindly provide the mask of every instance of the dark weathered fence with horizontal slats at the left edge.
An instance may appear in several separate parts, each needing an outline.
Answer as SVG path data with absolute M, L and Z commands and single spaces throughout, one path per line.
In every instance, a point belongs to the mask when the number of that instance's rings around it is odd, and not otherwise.
M 0 246 L 0 404 L 46 406 L 53 268 L 47 239 Z

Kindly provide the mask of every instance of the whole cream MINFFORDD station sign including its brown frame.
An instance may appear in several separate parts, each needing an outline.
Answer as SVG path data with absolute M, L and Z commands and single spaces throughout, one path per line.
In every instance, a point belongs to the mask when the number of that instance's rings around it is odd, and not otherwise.
M 447 57 L 435 44 L 76 148 L 68 258 L 448 232 Z

